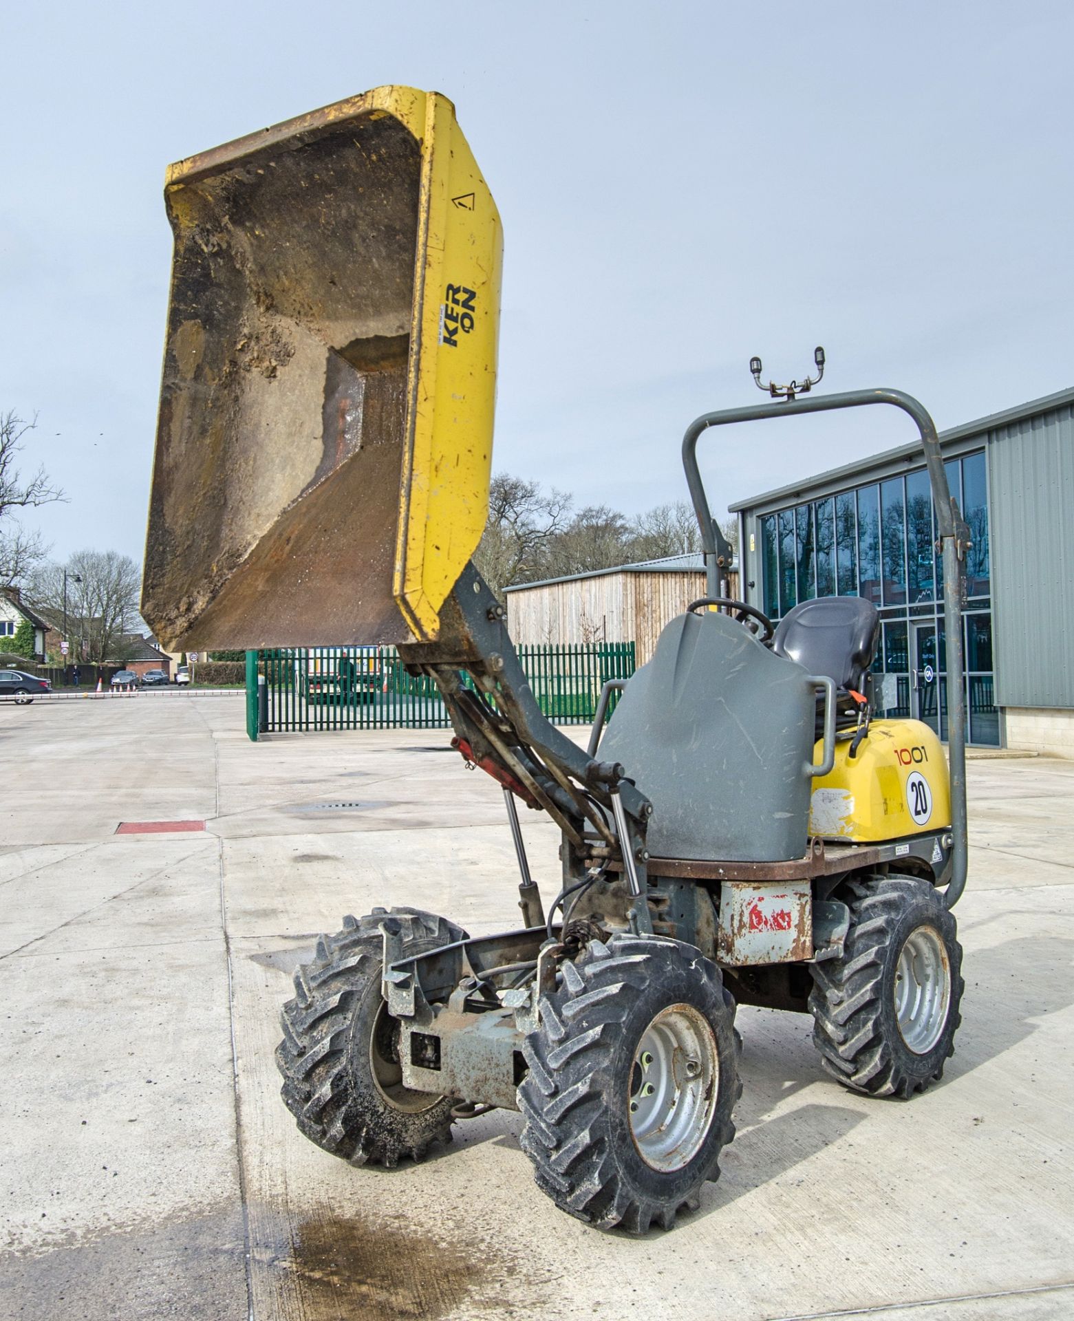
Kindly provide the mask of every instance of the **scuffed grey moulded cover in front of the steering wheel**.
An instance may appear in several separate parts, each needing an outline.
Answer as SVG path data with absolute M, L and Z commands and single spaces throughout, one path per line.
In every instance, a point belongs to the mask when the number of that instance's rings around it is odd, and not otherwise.
M 598 757 L 649 795 L 655 857 L 801 857 L 815 712 L 802 666 L 725 614 L 680 614 L 626 686 Z

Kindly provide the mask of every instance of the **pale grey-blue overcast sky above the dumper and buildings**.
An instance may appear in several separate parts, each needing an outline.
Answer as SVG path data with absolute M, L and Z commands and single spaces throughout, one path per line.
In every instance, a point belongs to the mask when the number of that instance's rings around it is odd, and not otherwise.
M 141 556 L 172 160 L 379 83 L 449 95 L 503 217 L 495 466 L 627 511 L 815 343 L 941 427 L 1074 382 L 1067 3 L 0 3 L 0 410 Z M 873 410 L 869 410 L 872 413 Z M 910 439 L 771 424 L 715 509 Z M 713 443 L 715 444 L 715 443 Z

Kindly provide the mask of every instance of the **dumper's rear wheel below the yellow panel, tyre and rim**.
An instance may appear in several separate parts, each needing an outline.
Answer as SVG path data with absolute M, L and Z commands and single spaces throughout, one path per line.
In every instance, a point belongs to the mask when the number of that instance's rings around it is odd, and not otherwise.
M 962 946 L 927 881 L 849 881 L 843 956 L 810 966 L 812 1040 L 827 1073 L 869 1096 L 900 1096 L 943 1077 L 962 1022 Z

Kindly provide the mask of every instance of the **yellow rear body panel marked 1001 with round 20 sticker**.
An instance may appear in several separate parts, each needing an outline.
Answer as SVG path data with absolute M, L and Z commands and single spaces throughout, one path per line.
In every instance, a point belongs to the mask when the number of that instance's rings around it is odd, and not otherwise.
M 849 750 L 849 738 L 838 741 L 831 774 L 814 783 L 810 835 L 876 844 L 950 827 L 947 757 L 929 725 L 873 720 L 853 758 Z

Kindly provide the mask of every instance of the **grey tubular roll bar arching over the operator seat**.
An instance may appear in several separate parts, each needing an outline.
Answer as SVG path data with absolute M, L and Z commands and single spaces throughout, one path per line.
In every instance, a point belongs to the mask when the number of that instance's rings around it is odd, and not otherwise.
M 917 423 L 929 482 L 933 487 L 933 507 L 943 547 L 943 624 L 947 645 L 947 756 L 951 768 L 951 878 L 943 896 L 946 908 L 958 904 L 966 889 L 967 832 L 966 832 L 966 688 L 963 682 L 962 651 L 962 561 L 970 546 L 970 530 L 951 497 L 943 454 L 933 419 L 912 395 L 901 390 L 848 390 L 839 395 L 807 395 L 785 403 L 754 404 L 748 408 L 727 408 L 703 413 L 686 429 L 683 436 L 683 468 L 694 501 L 694 510 L 701 528 L 705 557 L 705 580 L 711 596 L 719 596 L 720 547 L 713 532 L 701 474 L 698 469 L 698 440 L 709 427 L 731 423 L 761 421 L 768 417 L 786 417 L 791 413 L 828 412 L 834 408 L 860 408 L 865 404 L 892 404 L 901 408 Z M 954 680 L 952 680 L 954 676 Z

